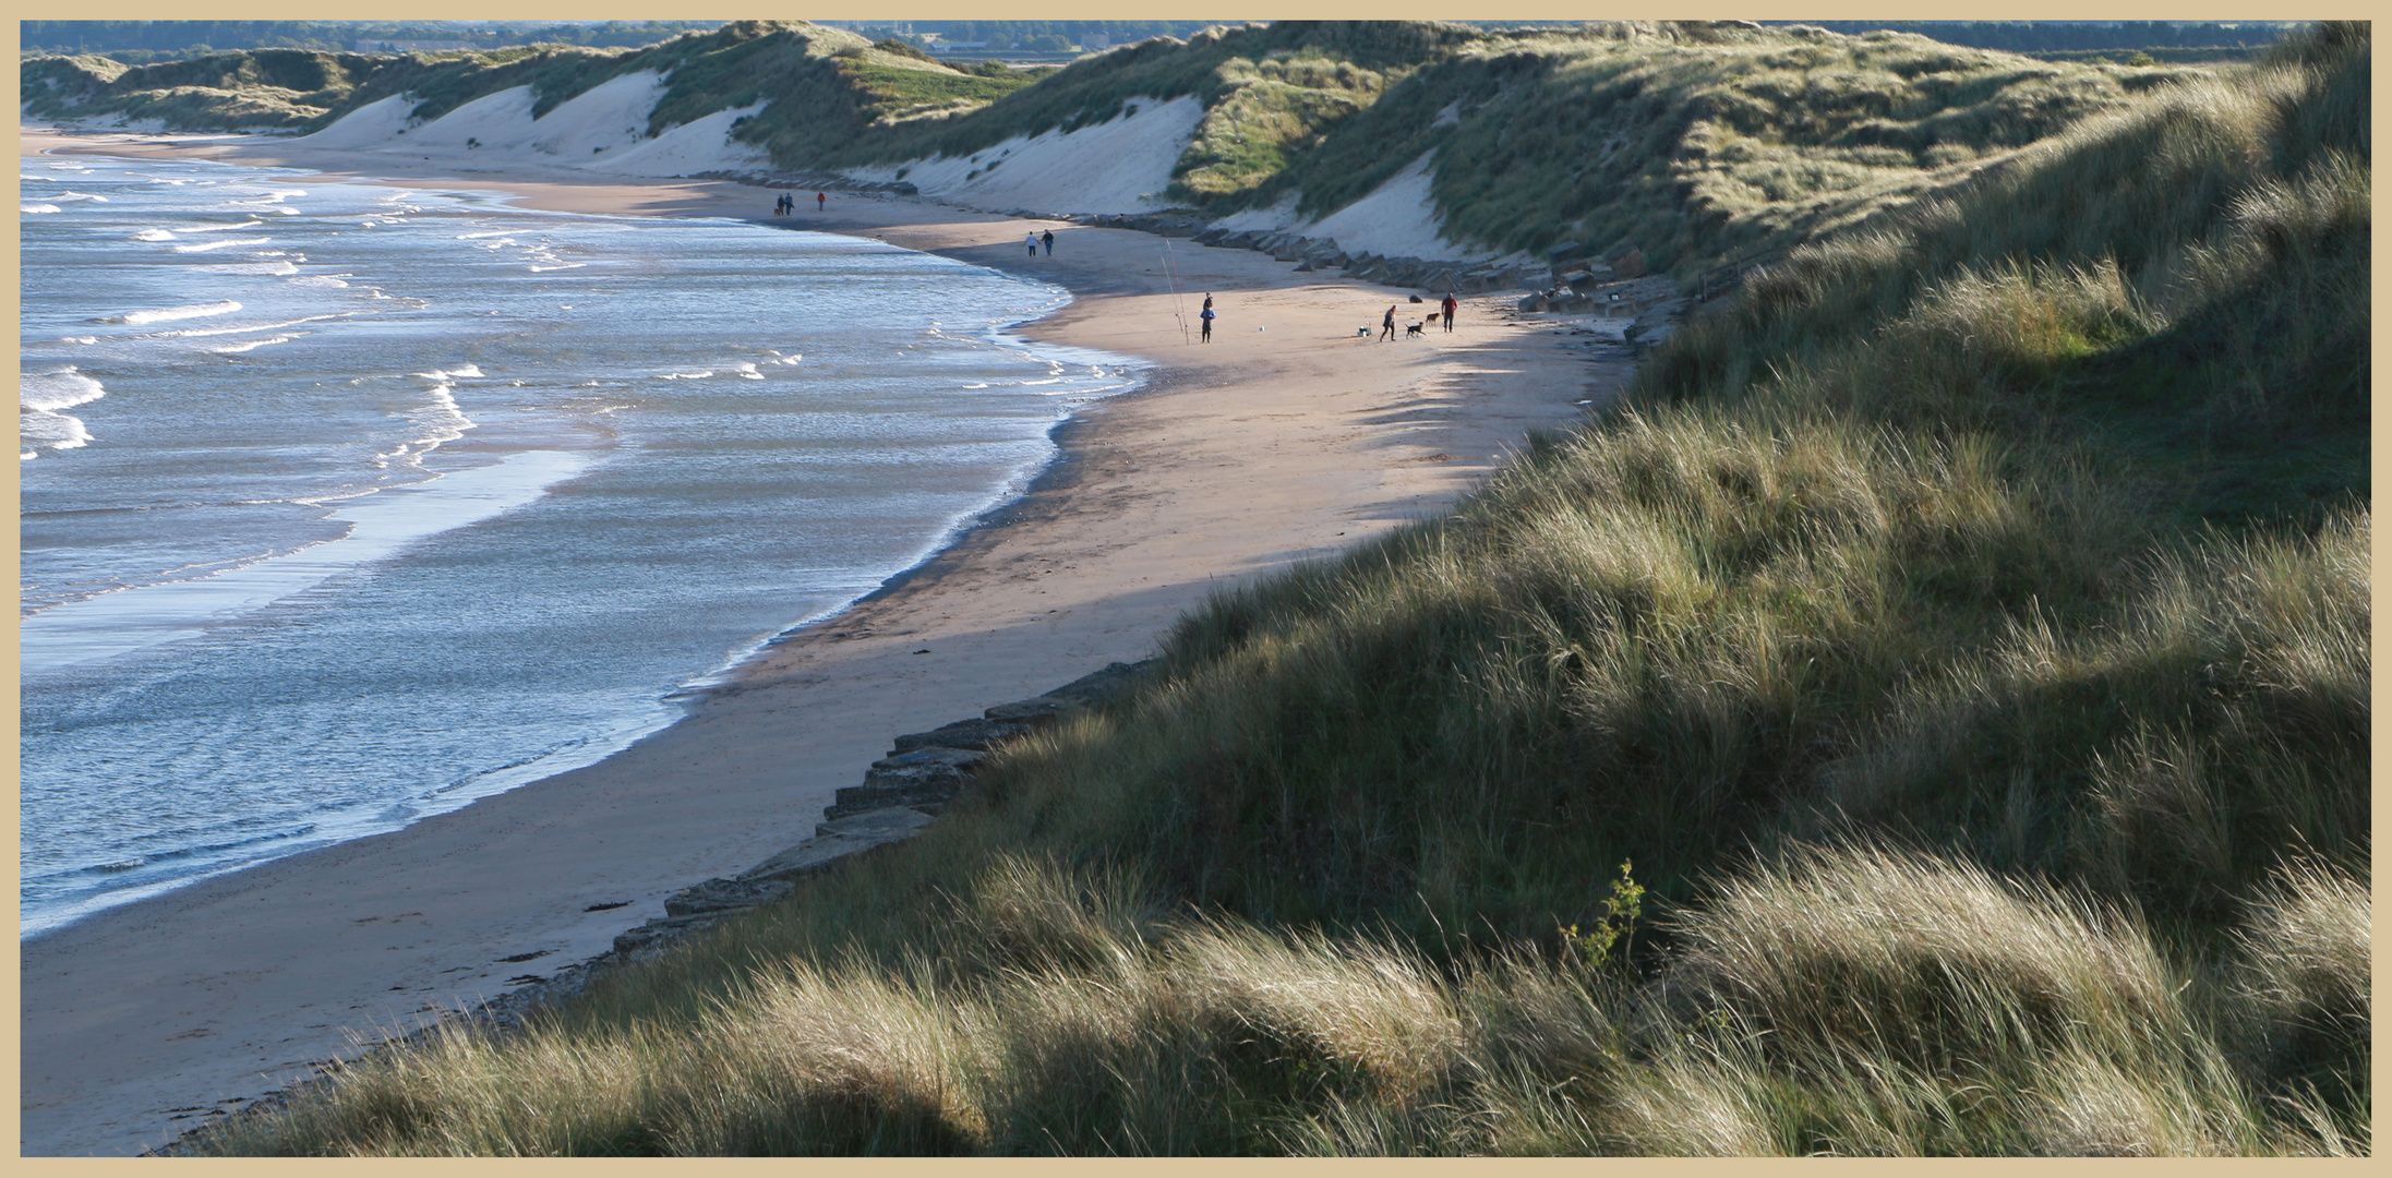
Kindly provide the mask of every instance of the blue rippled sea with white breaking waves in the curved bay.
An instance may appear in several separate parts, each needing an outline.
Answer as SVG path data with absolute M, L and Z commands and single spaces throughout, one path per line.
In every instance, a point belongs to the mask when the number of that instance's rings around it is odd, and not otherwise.
M 19 172 L 24 936 L 598 761 L 1139 381 L 880 242 Z

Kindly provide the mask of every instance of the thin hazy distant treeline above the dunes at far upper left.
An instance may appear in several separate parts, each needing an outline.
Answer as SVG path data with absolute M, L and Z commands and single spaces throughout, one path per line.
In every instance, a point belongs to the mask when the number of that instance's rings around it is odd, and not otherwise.
M 653 45 L 722 22 L 435 24 L 435 22 L 19 22 L 22 53 L 105 53 L 146 65 L 237 48 L 349 53 L 359 41 L 462 41 L 500 45 Z

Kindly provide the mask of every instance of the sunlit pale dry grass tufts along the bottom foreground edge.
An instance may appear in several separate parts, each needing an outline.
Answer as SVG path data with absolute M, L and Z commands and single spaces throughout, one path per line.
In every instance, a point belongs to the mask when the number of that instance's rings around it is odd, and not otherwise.
M 1151 922 L 1119 876 L 1005 860 L 1012 963 L 758 970 L 672 1025 L 452 1032 L 220 1152 L 309 1154 L 2241 1154 L 2354 1152 L 2263 1101 L 2119 912 L 1885 850 L 1720 891 L 1655 982 L 1528 951 Z M 2287 888 L 2363 895 L 2323 872 Z M 1136 888 L 1131 888 L 1134 893 Z M 1036 895 L 1031 895 L 1036 893 Z M 2270 893 L 2282 903 L 2292 891 Z M 2277 910 L 2270 910 L 2277 912 Z M 1043 917 L 1041 917 L 1043 915 Z M 2363 910 L 2361 910 L 2363 917 Z M 1033 934 L 1029 924 L 1055 924 Z M 2313 919 L 2313 917 L 2311 917 Z M 2263 917 L 2256 977 L 2313 946 Z M 1031 946 L 1050 946 L 1043 953 Z M 986 965 L 986 963 L 981 963 Z

